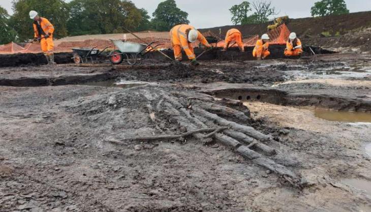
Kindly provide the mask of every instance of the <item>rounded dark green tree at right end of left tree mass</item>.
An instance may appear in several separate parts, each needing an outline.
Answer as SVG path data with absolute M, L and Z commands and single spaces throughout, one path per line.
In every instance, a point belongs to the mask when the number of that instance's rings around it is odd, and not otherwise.
M 170 31 L 174 25 L 190 23 L 188 13 L 177 8 L 174 0 L 160 3 L 152 16 L 152 25 L 157 31 Z

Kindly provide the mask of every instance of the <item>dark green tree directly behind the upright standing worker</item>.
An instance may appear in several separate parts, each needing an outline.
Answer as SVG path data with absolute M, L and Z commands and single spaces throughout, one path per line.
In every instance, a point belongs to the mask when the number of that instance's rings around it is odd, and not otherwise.
M 13 0 L 14 14 L 9 25 L 17 32 L 19 40 L 34 38 L 33 20 L 28 15 L 30 10 L 37 11 L 54 25 L 55 38 L 67 36 L 68 7 L 63 0 Z

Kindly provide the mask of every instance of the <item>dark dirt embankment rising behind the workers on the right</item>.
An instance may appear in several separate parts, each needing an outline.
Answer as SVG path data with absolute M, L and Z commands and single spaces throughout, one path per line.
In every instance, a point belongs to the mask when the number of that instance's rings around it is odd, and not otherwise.
M 268 23 L 230 25 L 200 29 L 211 31 L 215 35 L 225 36 L 230 28 L 239 29 L 245 37 L 266 33 Z M 287 23 L 292 32 L 296 32 L 304 46 L 320 46 L 334 51 L 369 51 L 371 48 L 371 12 L 358 12 L 315 18 L 291 19 Z M 322 33 L 327 34 L 324 37 Z M 336 35 L 337 34 L 337 35 Z M 335 36 L 336 35 L 336 36 Z

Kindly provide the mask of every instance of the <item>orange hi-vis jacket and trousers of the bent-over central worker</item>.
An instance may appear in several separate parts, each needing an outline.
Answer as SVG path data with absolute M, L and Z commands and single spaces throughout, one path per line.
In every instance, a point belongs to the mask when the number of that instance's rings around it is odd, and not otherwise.
M 196 58 L 196 56 L 191 44 L 188 42 L 188 36 L 186 33 L 188 29 L 195 29 L 195 27 L 188 24 L 180 24 L 174 26 L 170 30 L 171 44 L 173 48 L 175 46 L 181 46 L 181 48 L 183 48 L 183 50 L 187 54 L 188 58 L 194 59 Z M 206 41 L 205 37 L 200 32 L 198 32 L 197 40 L 200 41 L 204 46 L 210 47 L 210 44 Z

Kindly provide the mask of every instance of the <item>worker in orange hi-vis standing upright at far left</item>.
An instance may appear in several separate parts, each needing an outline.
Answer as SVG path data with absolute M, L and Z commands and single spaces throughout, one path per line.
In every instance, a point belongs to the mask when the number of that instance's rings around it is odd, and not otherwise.
M 34 20 L 34 41 L 40 41 L 41 50 L 43 50 L 48 65 L 54 65 L 54 26 L 48 19 L 42 18 L 36 11 L 29 11 L 29 18 Z

